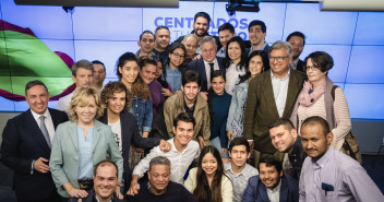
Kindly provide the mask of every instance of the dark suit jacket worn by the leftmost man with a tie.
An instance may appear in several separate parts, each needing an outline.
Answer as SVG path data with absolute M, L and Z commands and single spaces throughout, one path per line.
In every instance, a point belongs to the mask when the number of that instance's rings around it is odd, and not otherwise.
M 49 109 L 53 127 L 68 121 L 63 111 Z M 50 173 L 33 170 L 32 162 L 44 157 L 49 159 L 50 147 L 31 109 L 8 120 L 2 133 L 1 162 L 14 171 L 13 188 L 17 199 L 43 200 L 55 191 Z

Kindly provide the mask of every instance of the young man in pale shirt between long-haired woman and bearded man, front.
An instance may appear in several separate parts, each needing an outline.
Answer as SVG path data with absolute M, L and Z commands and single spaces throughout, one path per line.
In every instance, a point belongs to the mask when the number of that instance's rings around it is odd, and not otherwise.
M 229 144 L 230 162 L 224 164 L 224 170 L 230 177 L 233 186 L 233 202 L 241 202 L 248 180 L 259 175 L 256 168 L 247 164 L 251 157 L 250 144 L 243 138 L 236 138 Z

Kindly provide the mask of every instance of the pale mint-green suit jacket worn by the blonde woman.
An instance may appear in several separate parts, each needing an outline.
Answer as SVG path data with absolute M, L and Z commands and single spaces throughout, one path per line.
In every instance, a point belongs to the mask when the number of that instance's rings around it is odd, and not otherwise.
M 121 181 L 123 161 L 116 143 L 115 134 L 110 127 L 98 120 L 95 120 L 92 148 L 93 165 L 95 166 L 100 161 L 110 156 L 110 159 L 119 168 L 119 181 Z M 58 193 L 61 197 L 70 198 L 62 188 L 62 185 L 71 182 L 74 188 L 79 189 L 79 140 L 76 122 L 67 121 L 59 124 L 56 130 L 49 166 L 55 185 L 58 188 Z

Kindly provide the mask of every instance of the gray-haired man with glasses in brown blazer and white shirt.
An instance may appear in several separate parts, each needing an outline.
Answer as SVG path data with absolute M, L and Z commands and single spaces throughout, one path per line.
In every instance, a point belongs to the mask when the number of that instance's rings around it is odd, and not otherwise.
M 244 111 L 244 138 L 254 146 L 254 163 L 266 154 L 283 157 L 272 145 L 268 126 L 278 118 L 289 119 L 305 74 L 289 68 L 292 47 L 278 40 L 269 49 L 271 70 L 250 82 Z

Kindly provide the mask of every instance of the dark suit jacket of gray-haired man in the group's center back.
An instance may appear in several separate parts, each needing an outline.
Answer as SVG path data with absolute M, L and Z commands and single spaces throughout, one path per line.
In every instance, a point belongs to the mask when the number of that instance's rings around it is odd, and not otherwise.
M 217 63 L 218 63 L 218 68 L 219 70 L 224 73 L 225 75 L 225 72 L 226 72 L 226 68 L 224 67 L 224 63 L 223 63 L 223 58 L 220 57 L 216 57 L 217 59 Z M 206 76 L 206 72 L 205 72 L 205 64 L 204 64 L 204 60 L 203 60 L 203 57 L 200 58 L 199 60 L 193 60 L 191 61 L 188 67 L 187 67 L 188 70 L 193 70 L 195 72 L 197 72 L 201 76 L 201 80 L 200 80 L 200 87 L 201 87 L 201 92 L 208 92 L 208 83 L 207 83 L 207 76 Z

